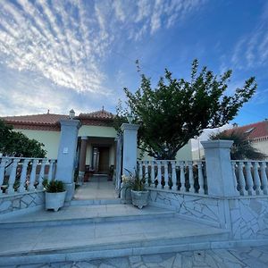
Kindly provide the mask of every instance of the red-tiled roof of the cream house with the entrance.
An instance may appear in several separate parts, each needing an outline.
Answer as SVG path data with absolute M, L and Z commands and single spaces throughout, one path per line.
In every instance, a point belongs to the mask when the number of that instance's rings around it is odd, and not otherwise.
M 113 113 L 109 113 L 102 109 L 92 113 L 80 113 L 75 119 L 80 120 L 83 125 L 111 126 L 113 117 Z M 59 121 L 68 118 L 69 115 L 66 114 L 42 113 L 5 116 L 1 119 L 10 125 L 13 125 L 14 129 L 59 131 L 61 129 Z

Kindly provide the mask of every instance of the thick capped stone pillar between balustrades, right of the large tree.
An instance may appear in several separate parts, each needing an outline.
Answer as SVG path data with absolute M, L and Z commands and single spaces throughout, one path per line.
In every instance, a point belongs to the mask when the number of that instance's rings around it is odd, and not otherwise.
M 209 196 L 234 197 L 236 181 L 230 163 L 232 140 L 201 141 L 205 150 L 205 166 Z

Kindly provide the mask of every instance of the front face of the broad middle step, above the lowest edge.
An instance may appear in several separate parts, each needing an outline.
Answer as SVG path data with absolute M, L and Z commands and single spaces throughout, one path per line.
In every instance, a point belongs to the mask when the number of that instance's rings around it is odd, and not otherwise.
M 126 235 L 127 236 L 127 235 Z M 224 240 L 227 239 L 226 237 L 229 236 L 228 230 L 219 230 L 217 233 L 214 234 L 201 234 L 198 236 L 162 236 L 162 237 L 155 237 L 150 239 L 130 239 L 130 240 L 123 240 L 123 241 L 115 241 L 115 242 L 107 242 L 103 241 L 98 244 L 88 244 L 88 245 L 80 245 L 80 246 L 68 246 L 68 247 L 58 247 L 58 248 L 43 248 L 43 249 L 36 249 L 29 252 L 28 250 L 25 251 L 17 251 L 12 253 L 0 253 L 0 264 L 1 259 L 3 257 L 26 257 L 29 258 L 30 256 L 35 255 L 51 255 L 51 254 L 73 254 L 73 253 L 83 253 L 83 252 L 96 252 L 96 251 L 105 251 L 105 250 L 120 250 L 126 248 L 136 248 L 136 247 L 155 247 L 157 246 L 172 246 L 172 245 L 180 245 L 183 243 L 184 245 L 193 244 L 192 240 L 196 241 L 195 243 L 200 242 L 207 242 L 209 241 L 216 241 L 216 240 Z M 190 241 L 189 241 L 190 240 Z

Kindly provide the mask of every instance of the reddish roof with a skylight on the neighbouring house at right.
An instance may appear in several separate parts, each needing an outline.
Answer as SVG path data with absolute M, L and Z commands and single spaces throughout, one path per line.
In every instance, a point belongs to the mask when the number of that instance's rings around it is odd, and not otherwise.
M 245 133 L 249 139 L 262 139 L 268 137 L 268 120 L 258 121 L 241 127 L 234 127 L 230 130 L 225 130 L 227 133 L 231 131 Z

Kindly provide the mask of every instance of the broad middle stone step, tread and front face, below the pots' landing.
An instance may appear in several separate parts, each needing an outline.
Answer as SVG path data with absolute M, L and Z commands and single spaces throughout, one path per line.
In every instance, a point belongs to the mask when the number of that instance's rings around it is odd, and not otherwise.
M 0 229 L 0 264 L 44 264 L 207 249 L 229 232 L 178 216 Z

